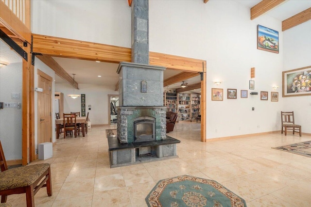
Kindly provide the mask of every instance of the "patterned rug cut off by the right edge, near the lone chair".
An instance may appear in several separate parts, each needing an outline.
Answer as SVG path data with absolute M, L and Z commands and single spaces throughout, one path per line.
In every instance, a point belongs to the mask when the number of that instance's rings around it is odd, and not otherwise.
M 289 145 L 279 146 L 279 147 L 272 147 L 272 148 L 282 150 L 285 152 L 291 152 L 291 153 L 295 153 L 298 155 L 311 157 L 311 141 L 303 142 L 303 143 L 296 143 L 296 144 L 289 144 Z

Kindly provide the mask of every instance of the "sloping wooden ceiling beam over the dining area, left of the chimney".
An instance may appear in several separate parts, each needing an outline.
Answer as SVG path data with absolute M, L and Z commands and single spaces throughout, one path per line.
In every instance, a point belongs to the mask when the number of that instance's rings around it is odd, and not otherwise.
M 66 80 L 71 86 L 73 86 L 75 89 L 79 89 L 78 83 L 73 80 L 73 78 L 60 66 L 56 61 L 49 55 L 37 55 L 37 57 L 40 61 L 42 61 L 44 64 L 48 65 L 52 68 L 53 71 L 55 71 L 55 74 L 61 77 L 62 79 Z

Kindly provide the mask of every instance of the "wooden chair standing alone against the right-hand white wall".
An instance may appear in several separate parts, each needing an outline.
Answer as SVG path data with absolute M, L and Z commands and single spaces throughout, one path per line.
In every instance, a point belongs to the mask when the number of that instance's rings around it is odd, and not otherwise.
M 281 134 L 283 134 L 284 131 L 286 136 L 287 129 L 290 129 L 293 130 L 293 134 L 295 134 L 295 132 L 299 132 L 299 136 L 301 137 L 301 125 L 295 124 L 294 111 L 290 112 L 281 111 L 281 120 L 282 120 Z

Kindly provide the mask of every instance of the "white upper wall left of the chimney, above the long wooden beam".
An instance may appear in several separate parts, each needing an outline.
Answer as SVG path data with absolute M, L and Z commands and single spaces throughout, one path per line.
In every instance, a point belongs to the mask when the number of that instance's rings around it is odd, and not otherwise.
M 33 0 L 36 34 L 131 47 L 131 7 L 126 0 Z

